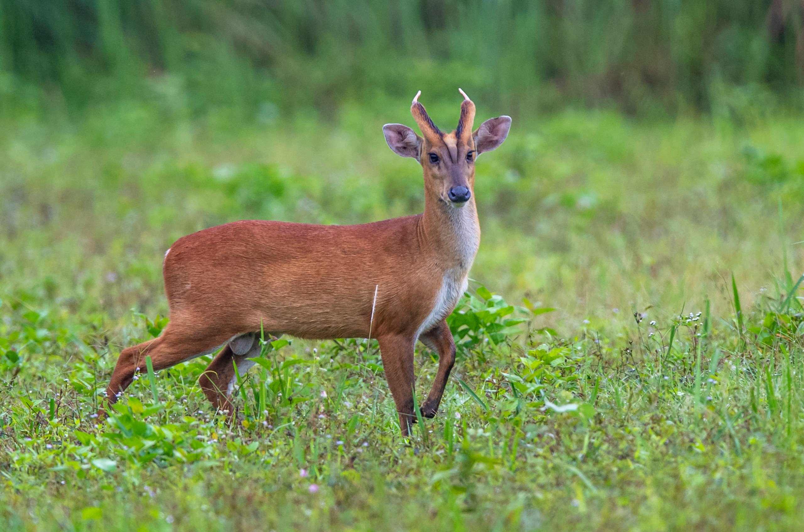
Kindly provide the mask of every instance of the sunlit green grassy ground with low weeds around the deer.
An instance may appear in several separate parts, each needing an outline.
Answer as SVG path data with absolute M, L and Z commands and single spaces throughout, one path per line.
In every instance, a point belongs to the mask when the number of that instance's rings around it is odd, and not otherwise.
M 203 358 L 146 367 L 92 418 L 117 353 L 166 324 L 175 238 L 420 209 L 419 170 L 379 133 L 405 109 L 234 127 L 124 102 L 6 122 L 3 530 L 798 529 L 797 117 L 515 117 L 478 161 L 477 282 L 410 445 L 359 339 L 265 339 L 235 427 L 199 390 Z M 416 367 L 421 398 L 434 355 Z

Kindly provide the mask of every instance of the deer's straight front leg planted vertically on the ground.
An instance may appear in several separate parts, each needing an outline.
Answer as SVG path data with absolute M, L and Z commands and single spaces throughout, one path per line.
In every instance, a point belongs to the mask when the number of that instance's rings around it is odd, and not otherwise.
M 402 436 L 407 437 L 411 425 L 416 423 L 416 412 L 413 410 L 413 344 L 415 338 L 409 336 L 381 336 L 379 354 L 383 357 L 385 380 L 396 403 L 396 412 L 400 416 Z

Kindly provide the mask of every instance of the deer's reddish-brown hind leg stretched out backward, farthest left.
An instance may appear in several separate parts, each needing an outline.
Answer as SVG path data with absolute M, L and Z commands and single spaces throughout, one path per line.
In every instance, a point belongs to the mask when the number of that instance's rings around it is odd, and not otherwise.
M 134 380 L 134 374 L 146 370 L 146 357 L 151 357 L 154 371 L 170 368 L 179 362 L 211 353 L 231 337 L 227 334 L 227 332 L 203 334 L 170 324 L 162 332 L 162 336 L 123 349 L 106 388 L 107 401 L 109 404 L 117 402 L 119 394 L 122 394 Z

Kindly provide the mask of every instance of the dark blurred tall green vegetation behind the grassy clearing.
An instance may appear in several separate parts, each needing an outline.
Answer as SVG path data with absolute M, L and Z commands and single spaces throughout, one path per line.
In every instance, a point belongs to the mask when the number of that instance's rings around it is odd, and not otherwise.
M 800 99 L 802 16 L 783 0 L 6 0 L 2 96 L 76 112 L 161 98 L 248 121 L 456 85 L 511 114 L 710 110 L 736 88 Z

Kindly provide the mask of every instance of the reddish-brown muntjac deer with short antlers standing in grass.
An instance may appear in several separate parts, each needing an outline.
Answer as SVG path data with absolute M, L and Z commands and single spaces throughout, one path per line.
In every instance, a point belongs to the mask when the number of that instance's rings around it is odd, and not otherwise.
M 159 370 L 223 347 L 199 383 L 216 409 L 232 415 L 233 365 L 248 371 L 262 329 L 378 340 L 403 435 L 416 421 L 413 348 L 421 340 L 440 357 L 421 406 L 432 418 L 455 361 L 445 318 L 466 291 L 480 244 L 474 159 L 502 144 L 511 127 L 502 116 L 472 131 L 474 103 L 460 92 L 452 133 L 430 120 L 418 102 L 421 91 L 411 106 L 421 137 L 408 126 L 383 126 L 388 146 L 424 170 L 423 214 L 362 225 L 236 221 L 179 238 L 163 266 L 170 324 L 158 338 L 123 350 L 107 401 L 117 401 L 146 356 Z

